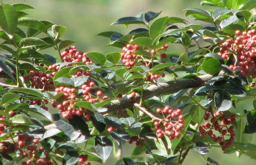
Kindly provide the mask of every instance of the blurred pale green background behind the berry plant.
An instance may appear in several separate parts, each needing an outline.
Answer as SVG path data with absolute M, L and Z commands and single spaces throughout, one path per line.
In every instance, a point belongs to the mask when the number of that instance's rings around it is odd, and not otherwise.
M 160 16 L 179 16 L 184 18 L 184 9 L 187 7 L 200 7 L 200 0 L 2 0 L 4 3 L 26 3 L 35 8 L 27 10 L 29 17 L 38 20 L 49 20 L 55 24 L 67 27 L 67 31 L 62 39 L 75 41 L 77 50 L 81 51 L 100 51 L 109 53 L 120 51 L 118 48 L 106 47 L 109 39 L 95 37 L 102 31 L 118 31 L 126 34 L 135 27 L 129 26 L 127 29 L 123 25 L 110 24 L 123 16 L 135 16 L 140 12 L 163 11 Z M 209 7 L 202 7 L 210 9 Z M 186 18 L 196 22 L 193 18 Z M 206 25 L 206 24 L 204 24 Z M 182 47 L 175 44 L 170 45 L 169 52 L 184 51 Z M 54 49 L 47 49 L 45 52 L 58 57 L 58 52 Z M 252 104 L 252 103 L 249 103 Z M 254 139 L 255 142 L 255 139 Z M 124 145 L 123 156 L 129 156 L 133 145 Z M 255 153 L 256 154 L 256 153 Z M 215 159 L 220 165 L 245 165 L 256 164 L 254 159 L 242 155 L 240 158 L 233 154 L 223 154 L 221 148 L 211 148 L 210 154 L 206 155 Z M 91 162 L 92 165 L 98 165 Z M 115 164 L 115 158 L 111 156 L 105 163 Z M 193 149 L 189 152 L 184 161 L 184 165 L 205 165 L 204 160 Z

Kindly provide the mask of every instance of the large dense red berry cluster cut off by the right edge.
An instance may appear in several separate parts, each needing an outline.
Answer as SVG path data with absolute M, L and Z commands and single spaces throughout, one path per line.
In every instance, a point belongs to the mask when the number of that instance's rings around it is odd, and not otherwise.
M 223 59 L 228 59 L 233 53 L 237 56 L 237 64 L 230 65 L 230 69 L 237 70 L 238 66 L 240 72 L 245 76 L 252 75 L 256 78 L 256 30 L 251 29 L 249 31 L 235 31 L 235 40 L 228 39 L 221 45 L 219 56 Z

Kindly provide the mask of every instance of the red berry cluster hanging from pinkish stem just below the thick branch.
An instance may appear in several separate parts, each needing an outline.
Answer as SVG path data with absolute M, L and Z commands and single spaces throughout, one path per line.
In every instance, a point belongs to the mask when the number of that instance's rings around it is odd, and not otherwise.
M 161 121 L 154 121 L 158 138 L 162 138 L 164 134 L 170 139 L 180 136 L 179 131 L 184 127 L 184 118 L 181 111 L 180 108 L 173 110 L 169 106 L 165 106 L 163 109 L 156 109 L 156 112 L 164 117 Z

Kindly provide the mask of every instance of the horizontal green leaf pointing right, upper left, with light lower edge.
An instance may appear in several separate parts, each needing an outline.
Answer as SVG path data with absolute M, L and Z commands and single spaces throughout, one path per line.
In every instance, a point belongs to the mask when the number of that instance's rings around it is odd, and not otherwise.
M 34 46 L 41 46 L 41 45 L 48 45 L 45 41 L 35 38 L 35 37 L 29 37 L 29 38 L 23 38 L 20 40 L 19 46 L 21 48 L 31 48 Z

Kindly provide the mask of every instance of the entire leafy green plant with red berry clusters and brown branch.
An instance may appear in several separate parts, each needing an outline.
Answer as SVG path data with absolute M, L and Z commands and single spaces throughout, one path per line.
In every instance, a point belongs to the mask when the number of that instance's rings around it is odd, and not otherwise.
M 193 149 L 218 165 L 211 147 L 256 159 L 256 4 L 201 5 L 215 9 L 184 11 L 200 24 L 152 11 L 115 20 L 138 27 L 98 33 L 120 48 L 104 55 L 27 17 L 32 6 L 1 4 L 0 164 L 90 165 L 114 152 L 118 165 L 180 165 Z

